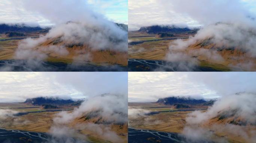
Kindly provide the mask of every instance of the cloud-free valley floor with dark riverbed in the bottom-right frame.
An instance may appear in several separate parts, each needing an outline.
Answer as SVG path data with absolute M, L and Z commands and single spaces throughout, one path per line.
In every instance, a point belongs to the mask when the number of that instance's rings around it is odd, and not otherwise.
M 130 136 L 130 134 L 136 134 L 137 137 L 139 137 L 140 134 L 144 134 L 143 132 L 146 133 L 151 133 L 152 137 L 152 142 L 149 142 L 150 136 L 148 135 L 145 142 L 148 143 L 157 143 L 157 142 L 166 142 L 165 136 L 161 136 L 161 134 L 180 134 L 180 136 L 183 136 L 183 130 L 186 127 L 186 117 L 188 117 L 188 114 L 191 113 L 192 111 L 195 110 L 201 110 L 201 112 L 204 112 L 207 110 L 207 106 L 194 106 L 189 109 L 176 109 L 173 106 L 167 106 L 167 105 L 159 105 L 156 103 L 129 103 L 128 104 L 129 109 L 143 109 L 149 113 L 145 115 L 138 115 L 135 117 L 129 116 L 129 139 L 134 140 L 134 136 Z M 222 125 L 222 122 L 225 122 L 225 120 L 211 120 L 207 124 L 203 124 L 203 128 L 209 128 L 211 130 L 214 130 L 212 128 L 212 125 L 218 124 Z M 242 127 L 248 132 L 255 130 L 255 127 Z M 134 131 L 135 130 L 135 131 Z M 142 132 L 141 132 L 141 131 Z M 150 132 L 149 132 L 149 131 Z M 159 133 L 157 133 L 159 132 Z M 161 133 L 162 132 L 162 133 Z M 140 136 L 142 137 L 142 136 Z M 222 139 L 225 138 L 225 140 L 228 140 L 230 143 L 242 143 L 246 142 L 243 140 L 243 137 L 238 137 L 235 136 L 234 134 L 231 133 L 225 133 L 225 132 L 215 132 L 213 139 Z M 157 139 L 157 140 L 155 140 Z M 161 140 L 163 139 L 163 140 Z M 177 140 L 173 138 L 170 138 L 170 142 L 173 143 L 182 143 L 183 139 L 177 137 L 179 142 L 176 142 Z M 159 141 L 158 141 L 159 140 Z

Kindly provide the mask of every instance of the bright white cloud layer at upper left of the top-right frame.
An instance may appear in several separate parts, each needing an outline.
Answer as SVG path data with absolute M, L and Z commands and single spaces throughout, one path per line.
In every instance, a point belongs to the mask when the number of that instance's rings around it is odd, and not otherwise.
M 169 0 L 136 0 L 128 1 L 129 30 L 138 30 L 142 26 L 170 25 L 188 23 L 198 25 L 189 16 L 174 12 Z

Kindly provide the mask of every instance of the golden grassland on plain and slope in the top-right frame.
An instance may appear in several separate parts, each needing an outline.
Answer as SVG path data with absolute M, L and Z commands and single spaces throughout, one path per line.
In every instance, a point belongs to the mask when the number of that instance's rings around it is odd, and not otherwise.
M 167 54 L 170 52 L 169 47 L 172 42 L 175 40 L 161 40 L 161 41 L 150 41 L 153 39 L 162 39 L 156 38 L 156 35 L 143 34 L 140 32 L 128 32 L 129 42 L 138 42 L 144 41 L 141 44 L 136 45 L 128 45 L 128 59 L 143 59 L 143 60 L 166 60 Z M 150 36 L 150 37 L 148 37 Z M 189 35 L 177 35 L 188 37 Z M 176 37 L 177 38 L 177 37 Z M 186 40 L 186 39 L 185 39 Z M 205 68 L 211 68 L 220 71 L 231 71 L 231 70 L 248 70 L 248 69 L 236 69 L 235 65 L 239 65 L 239 63 L 256 63 L 255 58 L 250 57 L 250 53 L 244 53 L 239 48 L 235 50 L 219 50 L 219 45 L 208 44 L 205 41 L 198 41 L 193 45 L 190 45 L 186 50 L 172 51 L 186 53 L 191 55 L 191 57 L 195 57 L 199 61 L 199 65 Z M 212 47 L 216 47 L 216 52 L 220 54 L 224 60 L 213 60 L 211 57 L 207 57 L 203 54 L 198 55 L 193 54 L 191 51 L 200 50 L 200 49 L 211 49 Z M 222 46 L 219 46 L 222 47 Z M 256 64 L 255 64 L 256 65 Z M 233 67 L 232 69 L 230 67 Z M 256 66 L 253 67 L 256 69 Z

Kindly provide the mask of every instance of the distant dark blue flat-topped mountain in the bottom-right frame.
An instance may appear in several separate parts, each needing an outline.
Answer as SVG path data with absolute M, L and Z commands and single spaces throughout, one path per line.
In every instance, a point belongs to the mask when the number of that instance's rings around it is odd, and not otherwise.
M 157 103 L 165 105 L 176 105 L 176 104 L 202 104 L 206 103 L 204 99 L 193 99 L 186 97 L 167 97 L 158 99 Z

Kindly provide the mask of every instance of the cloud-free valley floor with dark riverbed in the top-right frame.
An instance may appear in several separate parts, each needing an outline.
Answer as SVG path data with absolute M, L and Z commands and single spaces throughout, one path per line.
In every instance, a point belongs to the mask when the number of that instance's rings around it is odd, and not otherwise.
M 183 51 L 170 51 L 170 45 L 176 39 L 188 39 L 191 35 L 177 35 L 174 37 L 164 37 L 164 38 L 157 38 L 155 34 L 141 34 L 140 32 L 136 31 L 129 31 L 128 32 L 128 59 L 129 59 L 129 71 L 176 71 L 176 69 L 168 69 L 168 67 L 173 67 L 173 63 L 171 65 L 168 64 L 145 64 L 144 62 L 138 63 L 138 60 L 148 60 L 150 63 L 157 63 L 158 60 L 167 62 L 167 55 L 168 53 L 183 53 L 188 54 L 188 50 Z M 210 46 L 210 45 L 209 45 Z M 193 51 L 194 47 L 191 48 Z M 218 51 L 215 51 L 218 52 Z M 223 52 L 223 51 L 222 51 Z M 189 71 L 247 71 L 245 67 L 239 67 L 234 65 L 239 65 L 240 61 L 235 60 L 236 57 L 232 57 L 232 51 L 227 51 L 225 53 L 225 62 L 216 62 L 212 61 L 210 57 L 205 57 L 204 55 L 193 56 L 191 57 L 196 58 L 199 61 L 198 67 L 194 69 L 191 68 Z M 240 57 L 241 58 L 241 57 Z M 239 58 L 239 59 L 240 59 Z M 136 62 L 135 62 L 135 61 Z M 248 59 L 247 59 L 248 60 Z M 252 59 L 251 59 L 252 60 Z M 185 64 L 190 64 L 188 63 Z M 241 61 L 242 62 L 242 61 Z M 175 67 L 175 66 L 174 66 Z M 177 70 L 180 71 L 180 70 Z M 181 70 L 182 71 L 182 70 Z

